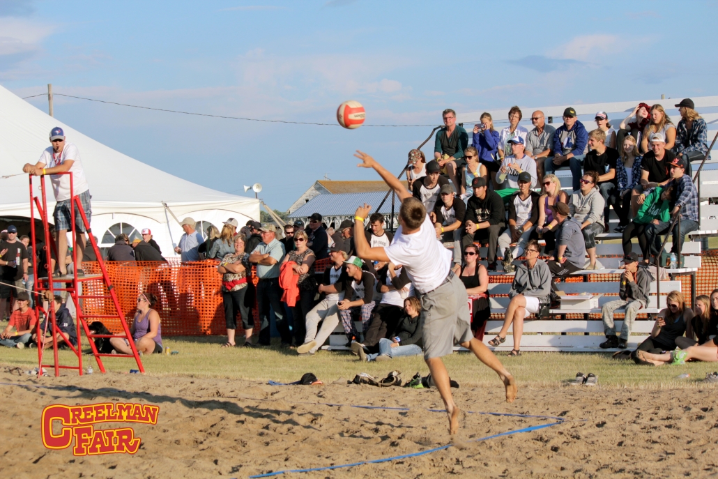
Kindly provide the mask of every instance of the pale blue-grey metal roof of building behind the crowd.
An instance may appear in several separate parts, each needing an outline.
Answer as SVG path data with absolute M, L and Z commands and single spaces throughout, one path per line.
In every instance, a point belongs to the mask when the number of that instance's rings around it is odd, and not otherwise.
M 350 183 L 350 182 L 346 182 Z M 345 193 L 342 195 L 317 195 L 308 203 L 294 210 L 288 218 L 307 218 L 312 213 L 322 216 L 351 216 L 357 208 L 364 203 L 372 206 L 372 213 L 384 199 L 386 192 Z M 401 201 L 394 195 L 394 213 L 398 214 Z M 389 196 L 379 210 L 385 215 L 391 214 L 391 196 Z

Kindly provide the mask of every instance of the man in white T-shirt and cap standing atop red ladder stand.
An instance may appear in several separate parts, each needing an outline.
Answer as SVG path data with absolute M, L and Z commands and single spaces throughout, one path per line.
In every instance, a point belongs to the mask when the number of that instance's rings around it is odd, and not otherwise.
M 64 258 L 67 253 L 67 231 L 70 230 L 72 223 L 71 199 L 73 195 L 78 197 L 83 211 L 87 217 L 88 224 L 92 216 L 92 208 L 90 205 L 90 187 L 85 180 L 85 171 L 83 163 L 80 160 L 80 150 L 73 143 L 65 142 L 65 133 L 60 126 L 50 131 L 50 143 L 52 147 L 45 149 L 40 155 L 37 163 L 26 163 L 22 167 L 22 171 L 30 173 L 34 176 L 50 175 L 52 182 L 52 192 L 55 193 L 55 211 L 52 217 L 55 218 L 55 228 L 57 229 L 57 254 L 60 258 Z M 58 175 L 58 173 L 70 172 L 73 175 L 73 192 L 70 192 L 70 175 Z M 78 248 L 78 257 L 82 258 L 85 253 L 85 223 L 79 213 L 77 206 L 75 208 L 75 238 Z M 67 274 L 67 266 L 58 265 L 60 268 L 60 276 Z M 83 276 L 82 270 L 78 269 L 78 276 Z

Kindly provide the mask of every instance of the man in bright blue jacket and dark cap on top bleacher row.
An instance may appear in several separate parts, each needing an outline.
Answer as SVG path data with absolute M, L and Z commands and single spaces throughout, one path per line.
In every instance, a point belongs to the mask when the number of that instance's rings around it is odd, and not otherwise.
M 569 106 L 564 110 L 564 124 L 554 133 L 554 157 L 544 160 L 544 172 L 554 173 L 556 168 L 570 167 L 574 191 L 578 191 L 587 144 L 588 132 L 578 121 L 576 110 Z

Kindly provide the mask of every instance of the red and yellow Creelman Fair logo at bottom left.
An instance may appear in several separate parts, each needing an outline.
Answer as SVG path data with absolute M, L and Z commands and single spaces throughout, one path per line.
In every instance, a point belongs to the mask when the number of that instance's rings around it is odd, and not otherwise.
M 157 424 L 159 406 L 134 403 L 101 403 L 86 406 L 52 404 L 42 410 L 42 444 L 47 449 L 66 449 L 72 445 L 73 455 L 134 454 L 141 439 L 131 427 L 96 429 L 93 424 L 130 422 Z M 56 423 L 59 421 L 60 423 Z M 59 434 L 53 431 L 59 429 Z

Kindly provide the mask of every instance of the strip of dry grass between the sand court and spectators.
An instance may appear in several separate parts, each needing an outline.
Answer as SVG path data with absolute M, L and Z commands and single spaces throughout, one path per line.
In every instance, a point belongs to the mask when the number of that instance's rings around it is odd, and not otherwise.
M 241 340 L 241 339 L 240 339 Z M 144 367 L 149 375 L 194 376 L 204 378 L 252 379 L 281 382 L 297 381 L 303 373 L 312 372 L 322 381 L 337 378 L 351 379 L 355 374 L 366 372 L 385 376 L 391 369 L 404 373 L 405 378 L 417 371 L 426 375 L 428 369 L 420 356 L 397 358 L 391 363 L 360 363 L 348 352 L 320 351 L 308 358 L 297 357 L 294 350 L 273 348 L 220 348 L 223 337 L 177 337 L 166 338 L 164 344 L 177 355 L 143 356 Z M 85 343 L 86 344 L 86 343 Z M 86 348 L 89 350 L 89 348 Z M 718 369 L 714 363 L 689 363 L 685 366 L 653 368 L 636 366 L 632 361 L 614 361 L 609 353 L 523 353 L 520 358 L 508 358 L 498 353 L 502 363 L 516 376 L 523 388 L 532 386 L 561 386 L 572 379 L 577 371 L 595 373 L 601 386 L 610 388 L 638 387 L 663 389 L 696 387 L 697 381 L 706 373 Z M 52 352 L 47 358 L 52 360 Z M 483 366 L 470 353 L 454 353 L 444 358 L 452 378 L 467 386 L 496 385 L 493 371 Z M 46 363 L 48 361 L 45 361 Z M 126 358 L 106 358 L 108 371 L 129 371 L 136 368 L 134 361 Z M 0 349 L 0 363 L 31 369 L 37 366 L 37 350 Z M 73 364 L 73 355 L 60 352 L 61 364 Z M 83 356 L 85 367 L 93 366 L 99 373 L 92 356 Z M 689 380 L 677 379 L 681 373 L 690 373 Z M 75 374 L 66 371 L 65 374 Z

